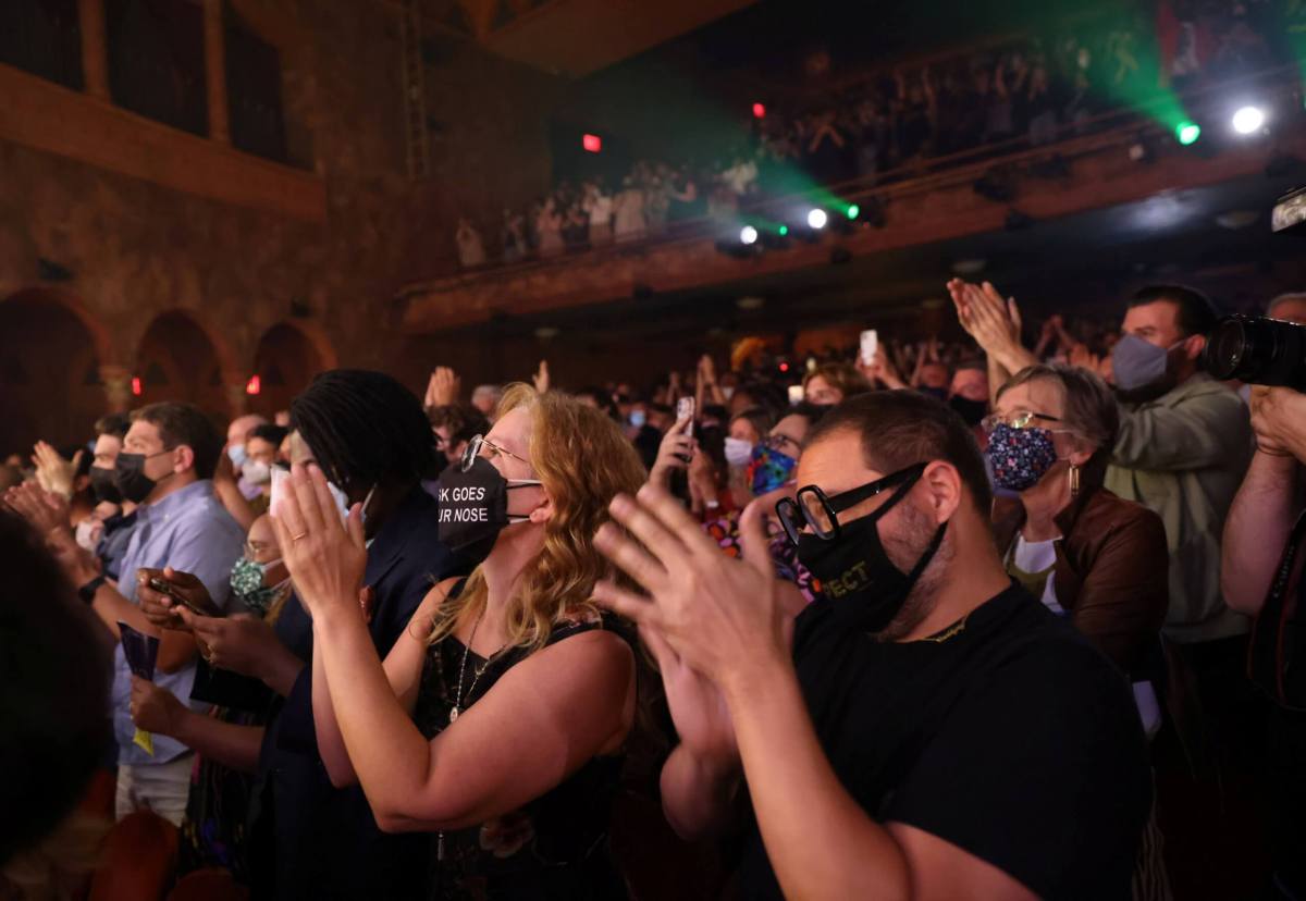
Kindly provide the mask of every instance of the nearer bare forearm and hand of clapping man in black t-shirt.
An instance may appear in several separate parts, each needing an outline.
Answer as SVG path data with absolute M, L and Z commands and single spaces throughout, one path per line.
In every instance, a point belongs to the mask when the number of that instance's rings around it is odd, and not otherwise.
M 665 492 L 645 487 L 637 503 L 618 498 L 611 512 L 640 545 L 603 526 L 598 547 L 652 597 L 606 582 L 596 597 L 641 629 L 657 629 L 720 688 L 761 838 L 786 897 L 1033 897 L 1007 874 L 935 836 L 880 825 L 840 783 L 794 672 L 785 605 L 760 522 L 743 531 L 743 559 L 734 560 L 693 530 Z M 700 803 L 709 814 L 720 807 Z

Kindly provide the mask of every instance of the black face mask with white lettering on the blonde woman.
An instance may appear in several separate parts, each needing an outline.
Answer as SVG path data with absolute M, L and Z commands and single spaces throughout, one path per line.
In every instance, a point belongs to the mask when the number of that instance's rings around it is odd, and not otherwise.
M 440 541 L 451 551 L 477 565 L 490 556 L 504 528 L 529 518 L 508 514 L 508 491 L 539 482 L 534 479 L 509 482 L 488 460 L 475 457 L 465 473 L 461 464 L 449 464 L 440 474 L 438 484 Z

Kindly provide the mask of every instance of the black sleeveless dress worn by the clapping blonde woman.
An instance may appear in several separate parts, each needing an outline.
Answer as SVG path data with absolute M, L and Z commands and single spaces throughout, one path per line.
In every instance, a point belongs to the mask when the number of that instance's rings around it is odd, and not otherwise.
M 549 644 L 611 625 L 607 618 L 563 623 L 554 627 Z M 449 725 L 466 652 L 452 635 L 427 652 L 413 719 L 428 740 Z M 522 648 L 488 661 L 466 653 L 460 710 L 475 704 L 525 657 Z M 522 753 L 530 753 L 529 748 Z M 518 811 L 479 827 L 432 836 L 430 896 L 441 901 L 626 898 L 626 885 L 609 849 L 609 821 L 623 761 L 624 756 L 594 757 Z

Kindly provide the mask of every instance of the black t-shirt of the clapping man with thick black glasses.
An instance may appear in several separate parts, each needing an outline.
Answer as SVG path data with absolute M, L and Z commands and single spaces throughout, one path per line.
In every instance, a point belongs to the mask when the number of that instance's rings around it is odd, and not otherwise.
M 943 641 L 879 642 L 821 599 L 794 663 L 840 782 L 1045 898 L 1127 898 L 1151 806 L 1147 746 L 1124 676 L 1012 586 Z M 756 824 L 746 897 L 780 897 Z M 867 897 L 874 897 L 867 887 Z

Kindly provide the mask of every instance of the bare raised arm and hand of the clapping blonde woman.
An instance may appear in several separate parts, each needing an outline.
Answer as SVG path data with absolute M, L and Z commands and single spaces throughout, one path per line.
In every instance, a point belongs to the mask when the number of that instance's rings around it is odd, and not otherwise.
M 384 829 L 482 823 L 626 740 L 635 658 L 614 633 L 593 631 L 513 666 L 428 742 L 396 696 L 359 615 L 367 561 L 360 505 L 350 511 L 346 533 L 321 470 L 296 466 L 289 488 L 273 524 L 313 618 L 313 656 L 321 656 L 345 751 Z

